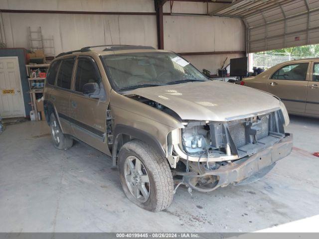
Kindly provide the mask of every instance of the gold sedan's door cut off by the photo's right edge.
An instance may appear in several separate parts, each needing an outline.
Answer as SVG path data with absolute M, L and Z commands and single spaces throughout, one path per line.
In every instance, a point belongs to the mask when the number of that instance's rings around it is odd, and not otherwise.
M 319 115 L 319 62 L 314 62 L 312 79 L 308 82 L 306 113 Z

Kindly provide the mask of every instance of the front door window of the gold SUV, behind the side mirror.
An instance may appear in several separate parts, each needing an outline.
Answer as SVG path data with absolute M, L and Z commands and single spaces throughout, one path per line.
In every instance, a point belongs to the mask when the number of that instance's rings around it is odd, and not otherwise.
M 89 57 L 79 57 L 75 78 L 75 91 L 83 92 L 87 83 L 100 83 L 101 76 L 96 69 L 95 62 Z

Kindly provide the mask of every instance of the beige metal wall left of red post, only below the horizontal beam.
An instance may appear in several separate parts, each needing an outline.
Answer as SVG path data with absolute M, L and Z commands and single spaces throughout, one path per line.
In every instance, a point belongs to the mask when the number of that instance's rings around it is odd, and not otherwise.
M 157 47 L 154 16 L 2 13 L 2 18 L 7 47 L 28 49 L 28 26 L 41 26 L 43 37 L 53 35 L 56 53 L 101 44 Z

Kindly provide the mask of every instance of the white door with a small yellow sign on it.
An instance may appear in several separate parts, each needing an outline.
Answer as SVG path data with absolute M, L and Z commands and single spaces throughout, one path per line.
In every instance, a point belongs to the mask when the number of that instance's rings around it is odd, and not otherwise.
M 25 117 L 18 57 L 0 57 L 0 116 Z

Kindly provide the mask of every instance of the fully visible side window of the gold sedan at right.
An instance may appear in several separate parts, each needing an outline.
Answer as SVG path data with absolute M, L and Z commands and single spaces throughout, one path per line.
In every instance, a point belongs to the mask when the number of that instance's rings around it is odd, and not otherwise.
M 270 79 L 306 81 L 309 63 L 286 65 L 277 70 Z

